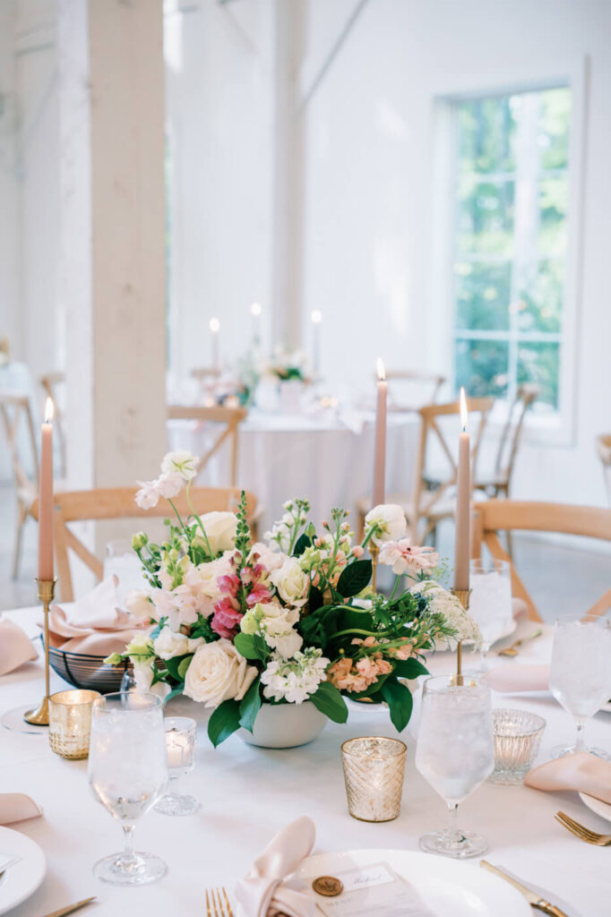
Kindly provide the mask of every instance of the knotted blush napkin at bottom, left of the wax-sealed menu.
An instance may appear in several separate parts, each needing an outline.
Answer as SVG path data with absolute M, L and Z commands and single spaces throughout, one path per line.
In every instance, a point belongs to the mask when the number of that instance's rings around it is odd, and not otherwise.
M 302 815 L 287 824 L 252 864 L 236 887 L 238 917 L 314 917 L 314 898 L 291 874 L 308 856 L 316 838 L 311 818 Z

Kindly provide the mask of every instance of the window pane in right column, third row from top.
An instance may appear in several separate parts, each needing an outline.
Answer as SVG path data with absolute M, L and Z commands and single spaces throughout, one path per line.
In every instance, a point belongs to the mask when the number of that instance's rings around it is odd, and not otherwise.
M 563 286 L 563 261 L 544 260 L 528 265 L 520 284 L 520 331 L 561 331 Z

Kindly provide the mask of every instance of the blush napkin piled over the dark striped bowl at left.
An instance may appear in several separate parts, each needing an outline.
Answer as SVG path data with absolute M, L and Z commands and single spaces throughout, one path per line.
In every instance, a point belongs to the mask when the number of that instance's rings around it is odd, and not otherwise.
M 109 576 L 68 610 L 51 605 L 49 642 L 56 649 L 91 656 L 122 653 L 140 627 L 118 607 L 117 577 Z

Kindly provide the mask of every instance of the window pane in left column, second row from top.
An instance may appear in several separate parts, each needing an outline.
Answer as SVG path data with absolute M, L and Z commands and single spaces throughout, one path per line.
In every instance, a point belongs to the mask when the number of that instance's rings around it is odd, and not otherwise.
M 513 232 L 514 182 L 463 178 L 459 187 L 459 252 L 510 255 Z

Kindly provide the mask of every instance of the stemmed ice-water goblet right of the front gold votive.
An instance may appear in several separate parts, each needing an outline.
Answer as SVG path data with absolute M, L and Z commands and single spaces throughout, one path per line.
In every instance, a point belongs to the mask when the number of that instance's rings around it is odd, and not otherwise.
M 457 858 L 483 854 L 485 838 L 461 831 L 457 824 L 459 803 L 494 770 L 491 692 L 476 676 L 442 675 L 425 681 L 416 767 L 450 812 L 447 828 L 423 834 L 420 847 Z

